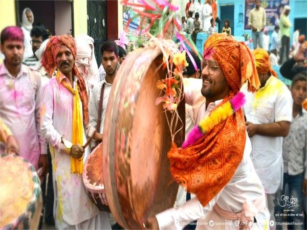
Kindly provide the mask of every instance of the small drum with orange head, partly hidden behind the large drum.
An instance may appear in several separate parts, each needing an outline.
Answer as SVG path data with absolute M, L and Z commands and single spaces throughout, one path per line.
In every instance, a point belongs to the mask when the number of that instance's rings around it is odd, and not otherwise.
M 87 158 L 82 178 L 87 195 L 89 195 L 98 209 L 110 212 L 103 185 L 102 143 L 100 143 L 90 154 L 89 158 Z

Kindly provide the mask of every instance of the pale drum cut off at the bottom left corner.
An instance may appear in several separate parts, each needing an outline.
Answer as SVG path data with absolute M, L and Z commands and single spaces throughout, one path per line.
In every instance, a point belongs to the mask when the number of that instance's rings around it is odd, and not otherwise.
M 0 157 L 0 228 L 37 229 L 42 197 L 31 163 L 13 154 Z

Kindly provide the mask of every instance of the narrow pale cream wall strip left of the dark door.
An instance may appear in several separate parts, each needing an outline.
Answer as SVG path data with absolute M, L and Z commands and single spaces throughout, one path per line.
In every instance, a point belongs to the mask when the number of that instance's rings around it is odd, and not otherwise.
M 86 0 L 74 0 L 74 36 L 87 34 L 87 7 Z

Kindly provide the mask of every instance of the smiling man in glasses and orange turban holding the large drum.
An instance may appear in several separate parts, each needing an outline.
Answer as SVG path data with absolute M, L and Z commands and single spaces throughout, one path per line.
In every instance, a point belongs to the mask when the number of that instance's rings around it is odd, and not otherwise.
M 182 148 L 173 145 L 168 152 L 173 178 L 196 197 L 178 209 L 149 218 L 146 227 L 182 229 L 197 220 L 196 229 L 231 225 L 240 229 L 265 229 L 268 224 L 265 192 L 249 156 L 251 144 L 242 105 L 234 102 L 243 95 L 239 89 L 246 81 L 251 91 L 260 85 L 253 55 L 245 43 L 226 34 L 210 36 L 204 45 L 202 80 L 184 82 L 186 103 L 195 106 L 201 95 L 206 98 L 206 103 L 194 110 L 198 111 L 198 126 L 193 128 L 206 131 L 197 138 L 190 132 Z M 225 106 L 230 101 L 233 112 L 216 119 L 218 113 L 226 114 Z M 208 119 L 214 123 L 211 128 L 203 125 Z

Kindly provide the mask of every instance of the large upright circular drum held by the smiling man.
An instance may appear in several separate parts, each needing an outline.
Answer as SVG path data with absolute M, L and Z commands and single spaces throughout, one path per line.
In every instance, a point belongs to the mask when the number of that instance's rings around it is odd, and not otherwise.
M 103 179 L 106 198 L 117 222 L 142 229 L 152 215 L 173 206 L 178 185 L 173 181 L 167 152 L 171 135 L 162 105 L 156 105 L 165 78 L 161 51 L 138 49 L 122 63 L 112 85 L 103 131 Z M 178 106 L 183 123 L 174 138 L 184 140 L 185 105 Z M 167 114 L 170 120 L 170 114 Z

